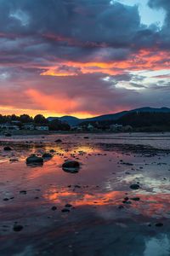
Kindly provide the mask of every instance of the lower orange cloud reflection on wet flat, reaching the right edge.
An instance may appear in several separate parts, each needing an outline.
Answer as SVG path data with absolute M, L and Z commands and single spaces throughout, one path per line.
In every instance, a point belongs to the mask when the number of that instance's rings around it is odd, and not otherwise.
M 80 189 L 80 190 L 79 190 Z M 156 195 L 125 195 L 126 191 L 111 191 L 101 193 L 97 190 L 92 193 L 82 191 L 81 188 L 73 190 L 58 190 L 48 189 L 43 197 L 51 202 L 63 204 L 65 202 L 71 203 L 74 207 L 82 206 L 120 206 L 123 205 L 125 210 L 137 212 L 144 216 L 159 216 L 163 217 L 165 214 L 170 218 L 170 200 L 167 194 Z M 79 190 L 79 191 L 78 191 Z M 123 204 L 125 197 L 129 197 L 131 204 Z M 132 198 L 139 197 L 140 201 L 133 201 Z

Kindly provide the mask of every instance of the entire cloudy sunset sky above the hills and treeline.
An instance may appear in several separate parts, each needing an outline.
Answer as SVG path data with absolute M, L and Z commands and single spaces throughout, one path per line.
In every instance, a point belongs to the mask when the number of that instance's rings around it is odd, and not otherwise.
M 170 0 L 0 0 L 0 113 L 170 107 Z

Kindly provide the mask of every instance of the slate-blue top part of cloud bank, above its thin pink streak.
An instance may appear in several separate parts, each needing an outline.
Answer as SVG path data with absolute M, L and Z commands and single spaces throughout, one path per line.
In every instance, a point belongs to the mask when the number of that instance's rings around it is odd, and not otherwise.
M 111 5 L 109 0 L 1 0 L 0 6 L 0 29 L 5 33 L 127 44 L 140 26 L 137 7 Z

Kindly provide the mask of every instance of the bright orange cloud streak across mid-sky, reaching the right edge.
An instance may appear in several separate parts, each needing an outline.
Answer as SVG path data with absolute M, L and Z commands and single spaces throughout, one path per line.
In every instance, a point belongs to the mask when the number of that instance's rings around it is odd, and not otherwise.
M 141 71 L 146 69 L 156 71 L 161 69 L 169 69 L 169 64 L 169 52 L 155 52 L 144 49 L 140 50 L 138 55 L 130 55 L 129 59 L 127 59 L 126 61 L 61 61 L 57 65 L 48 67 L 47 71 L 41 73 L 41 75 L 76 76 L 79 73 L 104 73 L 107 75 L 116 75 L 127 71 Z M 62 72 L 62 69 L 60 68 L 61 65 L 68 67 L 66 73 Z M 75 68 L 75 71 L 72 72 L 71 68 Z M 76 72 L 76 68 L 78 72 Z

